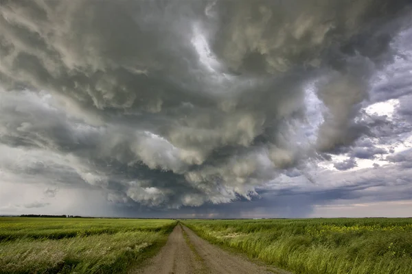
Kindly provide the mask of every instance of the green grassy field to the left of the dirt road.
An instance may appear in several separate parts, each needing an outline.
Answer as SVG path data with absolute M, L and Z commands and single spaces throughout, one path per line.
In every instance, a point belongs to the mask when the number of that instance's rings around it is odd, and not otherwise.
M 122 273 L 156 253 L 176 221 L 0 218 L 0 273 Z

